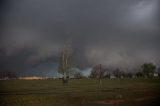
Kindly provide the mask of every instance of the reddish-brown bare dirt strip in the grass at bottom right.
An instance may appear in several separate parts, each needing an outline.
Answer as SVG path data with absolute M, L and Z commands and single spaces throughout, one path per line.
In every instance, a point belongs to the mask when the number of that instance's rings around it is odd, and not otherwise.
M 159 99 L 159 98 L 160 98 L 160 95 L 139 97 L 135 99 L 108 99 L 108 100 L 96 101 L 96 103 L 104 104 L 104 105 L 118 105 L 121 103 L 130 102 L 130 101 L 139 102 L 139 101 L 153 100 L 153 99 Z

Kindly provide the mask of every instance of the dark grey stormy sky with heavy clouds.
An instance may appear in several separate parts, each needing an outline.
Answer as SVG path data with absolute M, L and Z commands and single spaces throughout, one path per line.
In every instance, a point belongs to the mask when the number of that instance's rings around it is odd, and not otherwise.
M 1 0 L 0 71 L 57 75 L 69 41 L 74 67 L 160 66 L 159 0 Z

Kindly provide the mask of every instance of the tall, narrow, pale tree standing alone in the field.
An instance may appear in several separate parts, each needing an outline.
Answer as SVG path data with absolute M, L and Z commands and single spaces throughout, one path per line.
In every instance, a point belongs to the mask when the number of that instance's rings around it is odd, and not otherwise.
M 70 45 L 67 43 L 61 51 L 59 59 L 59 69 L 58 72 L 63 75 L 63 83 L 68 83 L 70 70 L 71 70 L 71 55 L 72 50 Z

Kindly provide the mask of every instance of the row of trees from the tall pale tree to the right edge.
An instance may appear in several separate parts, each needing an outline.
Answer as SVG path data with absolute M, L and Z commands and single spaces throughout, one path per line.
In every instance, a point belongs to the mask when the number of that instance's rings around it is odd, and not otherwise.
M 62 81 L 63 83 L 68 83 L 70 72 L 73 72 L 72 70 L 72 49 L 71 46 L 67 43 L 61 53 L 60 53 L 60 59 L 59 59 L 59 69 L 58 72 L 62 74 Z M 160 68 L 159 73 L 156 72 L 156 65 L 153 63 L 144 63 L 140 67 L 140 71 L 137 73 L 131 73 L 131 72 L 124 72 L 121 71 L 119 68 L 113 70 L 112 72 L 109 71 L 109 69 L 105 68 L 105 66 L 102 66 L 101 64 L 98 64 L 92 68 L 91 74 L 89 78 L 98 79 L 99 83 L 101 83 L 101 79 L 103 78 L 132 78 L 132 77 L 154 77 L 154 76 L 160 76 Z M 74 78 L 80 79 L 84 78 L 81 72 L 75 72 Z

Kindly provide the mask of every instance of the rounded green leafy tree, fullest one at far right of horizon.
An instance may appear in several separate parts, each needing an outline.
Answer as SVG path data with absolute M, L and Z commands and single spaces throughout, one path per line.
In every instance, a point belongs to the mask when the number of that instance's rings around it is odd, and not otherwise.
M 141 68 L 142 68 L 144 75 L 150 76 L 150 75 L 153 75 L 153 73 L 155 72 L 156 65 L 154 65 L 153 63 L 144 63 L 141 66 Z

